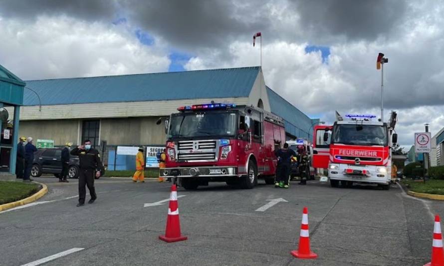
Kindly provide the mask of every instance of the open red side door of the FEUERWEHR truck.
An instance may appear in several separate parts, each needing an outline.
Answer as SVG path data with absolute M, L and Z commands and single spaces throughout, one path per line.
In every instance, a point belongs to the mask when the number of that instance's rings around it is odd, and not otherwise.
M 313 131 L 313 162 L 314 168 L 328 168 L 330 161 L 330 126 L 315 126 Z M 327 140 L 324 140 L 324 133 L 327 133 Z

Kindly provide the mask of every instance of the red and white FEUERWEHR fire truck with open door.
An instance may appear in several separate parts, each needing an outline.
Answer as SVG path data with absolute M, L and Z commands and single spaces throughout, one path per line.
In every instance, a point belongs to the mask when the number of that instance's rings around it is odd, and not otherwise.
M 336 113 L 333 126 L 314 128 L 315 168 L 328 169 L 332 187 L 339 183 L 375 183 L 390 188 L 392 148 L 397 142 L 396 112 L 390 123 L 376 120 L 375 115 L 348 114 L 343 119 Z

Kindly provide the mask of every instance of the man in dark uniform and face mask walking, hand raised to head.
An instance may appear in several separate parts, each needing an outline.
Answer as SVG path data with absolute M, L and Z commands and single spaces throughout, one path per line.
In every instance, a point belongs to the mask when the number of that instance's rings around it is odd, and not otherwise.
M 85 140 L 83 145 L 80 145 L 71 151 L 71 155 L 78 156 L 80 160 L 79 203 L 77 204 L 77 207 L 85 205 L 85 185 L 88 187 L 89 195 L 91 195 L 91 199 L 88 201 L 88 203 L 91 204 L 97 199 L 94 188 L 94 175 L 96 178 L 99 178 L 100 171 L 103 169 L 99 151 L 91 148 L 90 140 Z

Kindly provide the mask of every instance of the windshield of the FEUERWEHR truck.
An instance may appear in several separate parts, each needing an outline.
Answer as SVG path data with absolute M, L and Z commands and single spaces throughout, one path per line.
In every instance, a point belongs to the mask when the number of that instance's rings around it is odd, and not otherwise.
M 338 125 L 333 127 L 331 143 L 387 146 L 387 127 L 378 125 Z

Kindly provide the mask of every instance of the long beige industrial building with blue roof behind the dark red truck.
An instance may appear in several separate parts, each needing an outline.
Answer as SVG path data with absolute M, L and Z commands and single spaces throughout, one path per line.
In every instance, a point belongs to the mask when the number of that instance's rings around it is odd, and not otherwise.
M 288 138 L 311 139 L 313 124 L 264 82 L 260 67 L 26 81 L 20 135 L 99 148 L 164 145 L 160 117 L 210 101 L 254 105 L 281 116 Z M 12 110 L 13 112 L 13 110 Z M 104 154 L 105 155 L 105 154 Z

